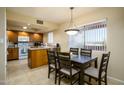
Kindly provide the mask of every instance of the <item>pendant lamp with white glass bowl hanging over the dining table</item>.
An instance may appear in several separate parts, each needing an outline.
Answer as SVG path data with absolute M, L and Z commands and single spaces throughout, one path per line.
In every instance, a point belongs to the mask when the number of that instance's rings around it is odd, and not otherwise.
M 79 29 L 76 29 L 76 27 L 74 27 L 74 23 L 73 23 L 73 9 L 74 7 L 70 7 L 71 10 L 71 20 L 70 20 L 70 25 L 69 28 L 65 30 L 65 32 L 68 35 L 75 35 L 79 32 Z

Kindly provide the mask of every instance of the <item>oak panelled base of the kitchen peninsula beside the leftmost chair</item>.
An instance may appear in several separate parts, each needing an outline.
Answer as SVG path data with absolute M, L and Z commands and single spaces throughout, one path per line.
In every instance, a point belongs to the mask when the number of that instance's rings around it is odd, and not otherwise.
M 36 68 L 46 64 L 48 64 L 47 49 L 28 50 L 28 66 L 30 68 Z

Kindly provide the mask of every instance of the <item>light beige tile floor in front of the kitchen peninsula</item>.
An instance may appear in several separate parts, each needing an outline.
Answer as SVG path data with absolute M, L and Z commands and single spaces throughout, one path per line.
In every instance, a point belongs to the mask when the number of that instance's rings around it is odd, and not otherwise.
M 62 81 L 67 85 L 68 81 Z M 27 60 L 15 60 L 7 63 L 7 85 L 54 85 L 54 73 L 48 79 L 48 65 L 30 69 Z

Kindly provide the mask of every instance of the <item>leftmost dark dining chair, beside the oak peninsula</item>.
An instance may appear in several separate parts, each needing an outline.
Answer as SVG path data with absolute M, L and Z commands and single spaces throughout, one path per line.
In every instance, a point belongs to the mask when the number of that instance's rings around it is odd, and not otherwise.
M 55 84 L 57 82 L 57 71 L 58 71 L 58 63 L 56 59 L 55 51 L 47 51 L 48 56 L 48 78 L 50 78 L 50 73 L 55 72 Z

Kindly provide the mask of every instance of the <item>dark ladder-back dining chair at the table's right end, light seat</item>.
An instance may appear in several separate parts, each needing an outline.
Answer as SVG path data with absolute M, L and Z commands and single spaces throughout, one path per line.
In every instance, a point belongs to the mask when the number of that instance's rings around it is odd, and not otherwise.
M 102 55 L 100 68 L 94 68 L 89 67 L 85 70 L 85 75 L 95 79 L 98 81 L 98 84 L 101 85 L 101 82 L 104 82 L 105 85 L 107 85 L 107 68 L 108 68 L 108 62 L 109 62 L 110 52 L 105 53 Z M 91 84 L 90 82 L 85 81 L 88 84 Z

